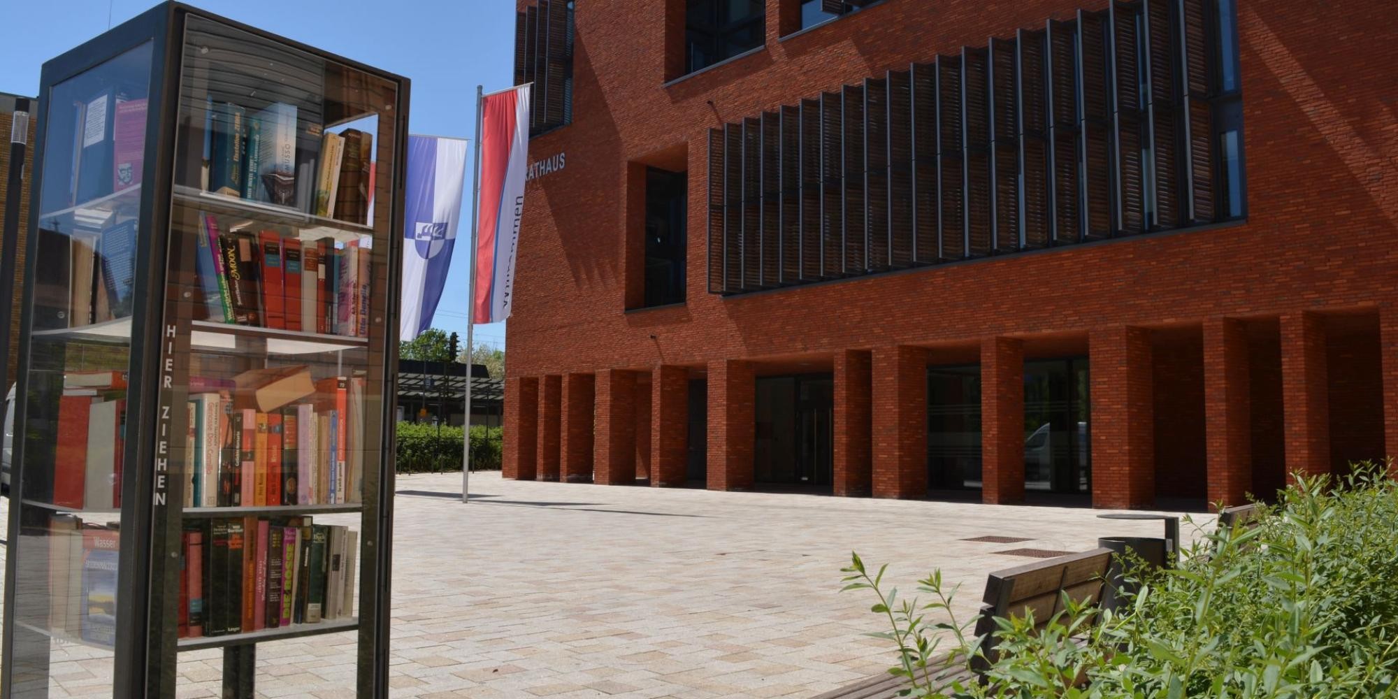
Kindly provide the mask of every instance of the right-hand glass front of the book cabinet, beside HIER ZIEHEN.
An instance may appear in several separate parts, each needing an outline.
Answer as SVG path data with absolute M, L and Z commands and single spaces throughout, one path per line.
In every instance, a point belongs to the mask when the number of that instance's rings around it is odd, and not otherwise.
M 199 17 L 182 70 L 165 323 L 187 347 L 161 394 L 183 435 L 169 624 L 182 647 L 348 640 L 382 463 L 397 87 Z

